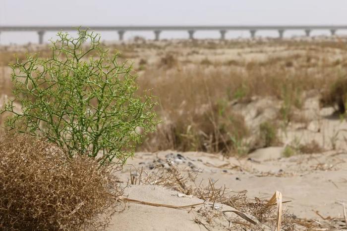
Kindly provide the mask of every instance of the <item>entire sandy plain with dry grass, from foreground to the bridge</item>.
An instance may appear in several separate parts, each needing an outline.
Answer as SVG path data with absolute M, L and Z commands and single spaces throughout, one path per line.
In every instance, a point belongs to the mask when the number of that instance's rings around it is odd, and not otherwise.
M 109 230 L 347 229 L 347 38 L 104 45 L 160 122 L 116 172 L 130 200 Z M 25 52 L 50 55 L 0 46 L 0 106 Z

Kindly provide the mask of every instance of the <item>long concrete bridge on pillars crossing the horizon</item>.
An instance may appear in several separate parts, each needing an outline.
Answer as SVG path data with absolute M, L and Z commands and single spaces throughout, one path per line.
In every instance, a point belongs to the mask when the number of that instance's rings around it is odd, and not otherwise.
M 0 26 L 1 32 L 8 31 L 36 31 L 39 36 L 39 44 L 44 42 L 44 34 L 47 31 L 76 31 L 78 26 Z M 162 31 L 187 31 L 188 38 L 194 39 L 196 31 L 219 31 L 221 40 L 225 39 L 228 31 L 249 31 L 251 38 L 255 38 L 256 32 L 261 30 L 275 30 L 279 33 L 279 38 L 283 38 L 285 31 L 289 30 L 303 30 L 306 36 L 310 36 L 312 30 L 328 30 L 331 35 L 335 35 L 337 30 L 347 29 L 347 25 L 273 25 L 273 26 L 90 26 L 81 27 L 81 29 L 90 28 L 95 31 L 117 31 L 119 40 L 123 40 L 126 31 L 153 31 L 154 39 L 160 39 Z

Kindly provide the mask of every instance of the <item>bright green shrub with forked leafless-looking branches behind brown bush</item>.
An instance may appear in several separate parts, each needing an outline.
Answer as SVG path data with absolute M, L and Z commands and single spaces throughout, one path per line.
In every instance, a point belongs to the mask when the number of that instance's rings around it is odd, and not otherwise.
M 77 38 L 58 33 L 51 58 L 27 55 L 11 66 L 22 110 L 16 113 L 8 102 L 2 112 L 14 115 L 6 125 L 67 148 L 71 156 L 124 163 L 134 144 L 154 129 L 153 97 L 135 94 L 132 65 L 109 55 L 98 34 L 78 32 Z

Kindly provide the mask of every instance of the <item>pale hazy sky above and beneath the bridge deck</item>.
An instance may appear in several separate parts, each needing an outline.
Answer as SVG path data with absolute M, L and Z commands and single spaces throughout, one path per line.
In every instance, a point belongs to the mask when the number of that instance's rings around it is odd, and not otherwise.
M 347 24 L 347 0 L 0 0 L 0 25 L 276 25 Z M 116 32 L 101 32 L 106 40 Z M 313 34 L 328 34 L 314 31 Z M 347 33 L 347 31 L 338 31 Z M 45 40 L 55 33 L 45 34 Z M 277 32 L 259 32 L 277 36 Z M 286 32 L 286 36 L 303 32 Z M 153 37 L 153 32 L 128 32 Z M 248 37 L 247 31 L 228 37 Z M 187 32 L 163 32 L 162 38 L 184 38 Z M 219 37 L 197 32 L 196 37 Z M 37 34 L 0 34 L 0 43 L 37 42 Z

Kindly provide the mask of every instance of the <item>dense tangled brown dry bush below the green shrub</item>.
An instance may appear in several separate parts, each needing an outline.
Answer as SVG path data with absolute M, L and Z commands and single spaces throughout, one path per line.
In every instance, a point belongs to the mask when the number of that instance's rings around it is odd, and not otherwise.
M 98 230 L 122 210 L 116 177 L 93 158 L 8 134 L 0 155 L 0 230 Z

